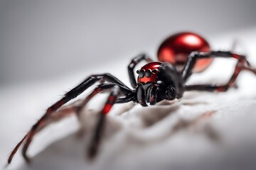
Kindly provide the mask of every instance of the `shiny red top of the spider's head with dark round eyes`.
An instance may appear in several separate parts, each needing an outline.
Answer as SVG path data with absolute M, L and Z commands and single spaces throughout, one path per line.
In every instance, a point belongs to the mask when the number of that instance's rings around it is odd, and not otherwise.
M 159 72 L 159 67 L 161 62 L 149 62 L 145 64 L 142 69 L 138 70 L 138 83 L 154 82 L 157 81 L 157 74 Z

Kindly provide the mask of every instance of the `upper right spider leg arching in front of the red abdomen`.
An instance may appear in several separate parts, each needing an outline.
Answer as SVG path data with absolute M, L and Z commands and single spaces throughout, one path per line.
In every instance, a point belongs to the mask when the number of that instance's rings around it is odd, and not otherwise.
M 183 68 L 182 72 L 182 79 L 183 81 L 187 81 L 188 78 L 192 74 L 192 69 L 196 63 L 196 60 L 200 60 L 203 58 L 210 58 L 210 57 L 223 57 L 223 58 L 235 58 L 240 62 L 241 64 L 247 64 L 248 67 L 250 67 L 250 63 L 247 62 L 245 59 L 245 56 L 238 55 L 233 52 L 229 51 L 210 51 L 210 52 L 191 52 L 191 54 L 188 56 L 188 60 L 185 64 L 185 67 Z

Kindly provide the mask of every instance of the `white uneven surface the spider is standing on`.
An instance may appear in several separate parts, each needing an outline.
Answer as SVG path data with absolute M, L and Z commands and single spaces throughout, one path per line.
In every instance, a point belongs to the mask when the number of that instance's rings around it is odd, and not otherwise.
M 227 50 L 233 38 L 240 38 L 248 60 L 256 66 L 256 29 L 223 34 L 211 42 L 214 49 Z M 128 84 L 124 67 L 128 62 L 124 62 L 110 63 L 102 72 L 111 68 L 112 74 Z M 191 77 L 189 84 L 225 82 L 233 72 L 233 64 L 230 60 L 216 60 L 206 72 Z M 88 75 L 95 70 L 83 73 Z M 6 164 L 11 149 L 41 117 L 43 109 L 82 79 L 79 73 L 41 84 L 0 89 L 0 166 Z M 181 101 L 148 108 L 119 104 L 107 119 L 97 159 L 89 162 L 85 150 L 94 128 L 95 113 L 102 106 L 100 102 L 105 101 L 103 96 L 97 97 L 85 108 L 82 138 L 75 132 L 79 128 L 75 116 L 50 125 L 36 135 L 28 149 L 32 164 L 27 166 L 18 152 L 9 169 L 255 169 L 255 84 L 256 77 L 243 72 L 238 79 L 239 89 L 226 93 L 188 92 Z M 124 107 L 131 110 L 123 112 Z M 215 111 L 212 118 L 172 131 L 179 120 L 193 120 L 211 111 Z M 207 137 L 207 126 L 213 128 L 219 140 Z

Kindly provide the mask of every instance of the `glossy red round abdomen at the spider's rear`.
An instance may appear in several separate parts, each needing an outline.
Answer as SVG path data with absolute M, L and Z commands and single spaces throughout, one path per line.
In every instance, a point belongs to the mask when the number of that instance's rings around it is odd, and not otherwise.
M 157 56 L 160 62 L 169 62 L 174 64 L 178 70 L 181 70 L 191 52 L 208 52 L 209 50 L 210 45 L 200 35 L 183 32 L 171 35 L 164 40 L 159 46 Z M 193 68 L 193 72 L 202 72 L 212 61 L 212 58 L 198 60 Z

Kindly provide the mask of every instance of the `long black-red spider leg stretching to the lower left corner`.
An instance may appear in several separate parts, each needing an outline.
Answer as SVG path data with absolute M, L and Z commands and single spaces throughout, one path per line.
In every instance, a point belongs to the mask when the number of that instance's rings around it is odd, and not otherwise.
M 11 152 L 9 159 L 8 159 L 8 164 L 11 163 L 11 160 L 14 157 L 14 154 L 16 154 L 18 148 L 21 146 L 23 142 L 25 142 L 23 149 L 22 149 L 22 154 L 26 162 L 29 162 L 29 158 L 26 155 L 27 149 L 29 145 L 31 144 L 31 141 L 33 140 L 34 135 L 36 134 L 36 130 L 38 128 L 42 127 L 45 125 L 46 120 L 48 119 L 49 115 L 57 111 L 60 106 L 63 106 L 65 103 L 70 101 L 71 99 L 75 98 L 76 96 L 82 94 L 83 91 L 85 91 L 87 88 L 95 84 L 97 81 L 104 80 L 104 81 L 109 81 L 115 84 L 118 84 L 120 86 L 123 86 L 124 89 L 130 90 L 129 87 L 125 86 L 122 81 L 119 81 L 116 77 L 112 76 L 112 74 L 94 74 L 90 77 L 87 77 L 85 81 L 82 81 L 78 86 L 75 86 L 74 89 L 71 89 L 68 91 L 68 93 L 65 94 L 63 98 L 60 99 L 60 101 L 57 101 L 54 103 L 50 108 L 47 109 L 46 113 L 38 120 L 37 123 L 35 123 L 31 130 L 28 131 L 25 137 L 18 142 L 18 145 L 14 148 L 14 150 Z

